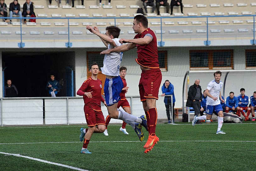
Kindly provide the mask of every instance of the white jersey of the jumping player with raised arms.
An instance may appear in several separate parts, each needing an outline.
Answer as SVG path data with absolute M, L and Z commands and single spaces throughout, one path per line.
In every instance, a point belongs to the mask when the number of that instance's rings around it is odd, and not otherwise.
M 116 47 L 121 46 L 122 44 L 119 42 L 119 38 L 112 39 Z M 110 44 L 108 49 L 113 49 Z M 118 76 L 119 75 L 119 68 L 122 61 L 123 52 L 112 52 L 110 54 L 105 54 L 103 60 L 103 67 L 101 67 L 102 74 L 109 75 L 109 76 Z

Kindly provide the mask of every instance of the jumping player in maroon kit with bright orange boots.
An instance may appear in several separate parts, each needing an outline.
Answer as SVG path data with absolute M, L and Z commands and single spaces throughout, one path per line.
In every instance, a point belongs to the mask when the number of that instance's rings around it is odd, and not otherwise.
M 147 153 L 157 144 L 159 138 L 155 134 L 157 123 L 156 100 L 158 100 L 159 87 L 162 81 L 162 73 L 159 69 L 157 40 L 155 33 L 147 28 L 148 21 L 143 15 L 136 15 L 133 20 L 133 30 L 137 35 L 134 39 L 120 39 L 123 44 L 120 47 L 108 49 L 101 54 L 111 52 L 125 52 L 137 47 L 138 58 L 136 62 L 142 70 L 139 82 L 139 92 L 143 109 L 147 117 L 148 140 L 144 145 Z

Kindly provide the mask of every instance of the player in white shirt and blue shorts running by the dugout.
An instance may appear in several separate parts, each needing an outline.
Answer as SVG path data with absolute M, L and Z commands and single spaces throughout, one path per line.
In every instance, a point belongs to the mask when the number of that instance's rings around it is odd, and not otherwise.
M 192 125 L 194 126 L 198 120 L 210 120 L 212 117 L 212 113 L 216 112 L 218 114 L 218 129 L 216 134 L 226 134 L 223 132 L 221 129 L 222 124 L 223 124 L 223 109 L 220 104 L 220 101 L 223 103 L 225 102 L 224 99 L 221 97 L 221 87 L 223 86 L 223 82 L 220 81 L 221 77 L 221 72 L 216 71 L 214 73 L 214 80 L 209 82 L 207 89 L 205 90 L 205 94 L 207 95 L 207 100 L 206 100 L 206 116 L 194 116 L 194 119 L 192 121 Z

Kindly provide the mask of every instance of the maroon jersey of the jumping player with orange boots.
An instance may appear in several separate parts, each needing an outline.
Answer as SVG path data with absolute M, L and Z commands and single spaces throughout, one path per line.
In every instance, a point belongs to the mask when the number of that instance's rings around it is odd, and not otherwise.
M 136 45 L 138 58 L 135 60 L 139 65 L 146 68 L 159 68 L 155 33 L 150 30 L 150 28 L 147 28 L 141 34 L 137 34 L 134 39 L 143 38 L 145 36 L 151 37 L 152 41 L 147 45 Z

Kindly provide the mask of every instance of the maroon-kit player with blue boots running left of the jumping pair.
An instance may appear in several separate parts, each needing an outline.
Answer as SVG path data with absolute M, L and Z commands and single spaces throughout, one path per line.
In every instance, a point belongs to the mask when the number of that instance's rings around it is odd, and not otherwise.
M 81 128 L 80 141 L 84 141 L 81 153 L 90 154 L 87 146 L 93 133 L 102 133 L 105 130 L 105 118 L 101 111 L 101 104 L 106 105 L 106 101 L 101 96 L 102 81 L 97 78 L 99 66 L 97 63 L 91 65 L 90 72 L 92 76 L 85 80 L 77 91 L 77 95 L 83 96 L 84 113 L 88 128 Z

